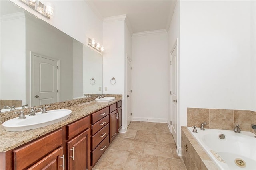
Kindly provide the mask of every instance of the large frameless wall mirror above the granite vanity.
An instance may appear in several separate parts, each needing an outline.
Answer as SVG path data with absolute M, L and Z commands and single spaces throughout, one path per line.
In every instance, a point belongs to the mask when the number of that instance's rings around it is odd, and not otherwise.
M 8 0 L 0 1 L 0 109 L 102 94 L 102 55 Z

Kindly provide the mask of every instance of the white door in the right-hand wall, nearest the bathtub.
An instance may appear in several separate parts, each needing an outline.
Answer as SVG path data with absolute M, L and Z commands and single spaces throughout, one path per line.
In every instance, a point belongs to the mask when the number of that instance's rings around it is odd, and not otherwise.
M 171 53 L 171 121 L 172 135 L 177 143 L 177 45 Z

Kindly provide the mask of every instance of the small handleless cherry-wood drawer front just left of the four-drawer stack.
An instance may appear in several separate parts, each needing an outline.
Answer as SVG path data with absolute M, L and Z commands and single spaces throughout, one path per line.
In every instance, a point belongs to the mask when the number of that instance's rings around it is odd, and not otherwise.
M 71 139 L 88 128 L 90 128 L 90 116 L 86 116 L 70 125 L 67 125 L 67 139 Z

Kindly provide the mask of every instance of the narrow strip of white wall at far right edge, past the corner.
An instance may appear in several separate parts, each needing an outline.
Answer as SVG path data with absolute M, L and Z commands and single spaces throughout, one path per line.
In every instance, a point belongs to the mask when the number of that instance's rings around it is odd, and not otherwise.
M 256 2 L 251 1 L 251 110 L 256 111 Z

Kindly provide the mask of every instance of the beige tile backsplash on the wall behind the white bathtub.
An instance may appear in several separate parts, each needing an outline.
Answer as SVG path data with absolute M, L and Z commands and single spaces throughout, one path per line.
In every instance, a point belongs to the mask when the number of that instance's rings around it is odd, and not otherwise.
M 187 126 L 206 122 L 205 128 L 233 130 L 236 125 L 241 131 L 253 132 L 251 124 L 256 124 L 256 112 L 249 110 L 187 108 Z

